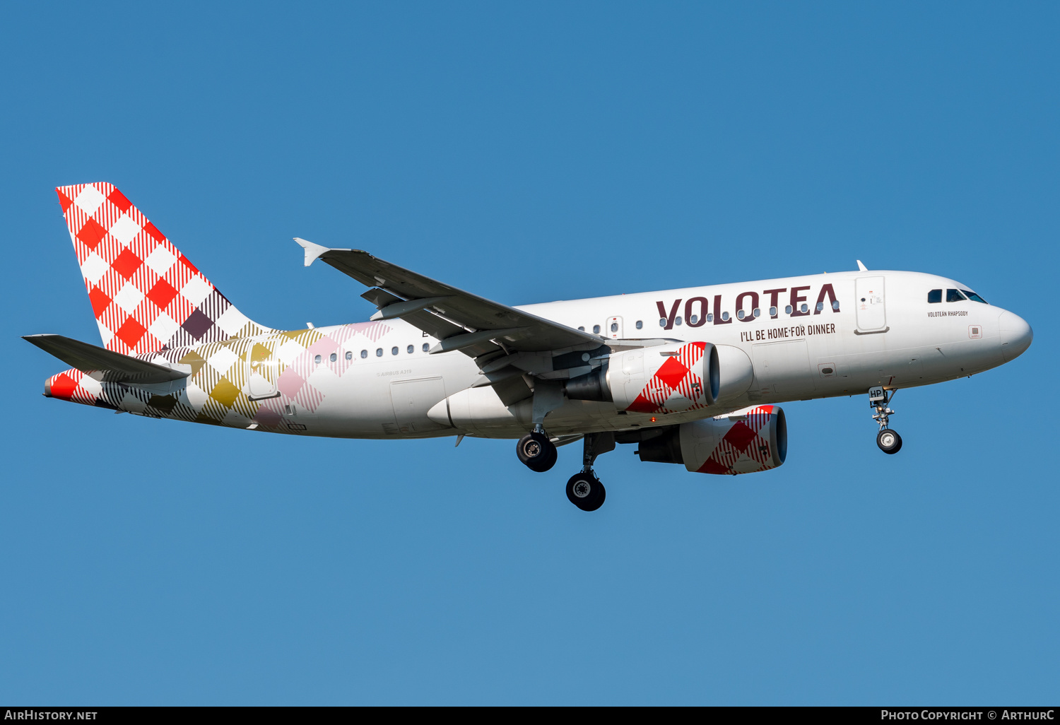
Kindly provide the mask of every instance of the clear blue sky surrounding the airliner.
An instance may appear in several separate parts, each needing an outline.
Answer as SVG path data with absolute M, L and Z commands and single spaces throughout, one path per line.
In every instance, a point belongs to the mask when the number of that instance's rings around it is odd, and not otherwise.
M 1053 3 L 8 5 L 0 701 L 1053 703 Z M 736 478 L 41 397 L 96 341 L 53 188 L 116 183 L 253 319 L 364 320 L 302 236 L 506 303 L 854 268 L 1035 329 L 1002 368 L 784 406 Z

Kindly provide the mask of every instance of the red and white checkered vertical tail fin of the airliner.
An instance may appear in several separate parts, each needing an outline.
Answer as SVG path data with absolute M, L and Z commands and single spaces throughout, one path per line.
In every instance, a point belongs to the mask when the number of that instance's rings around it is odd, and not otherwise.
M 267 332 L 110 183 L 58 187 L 103 346 L 125 355 Z

